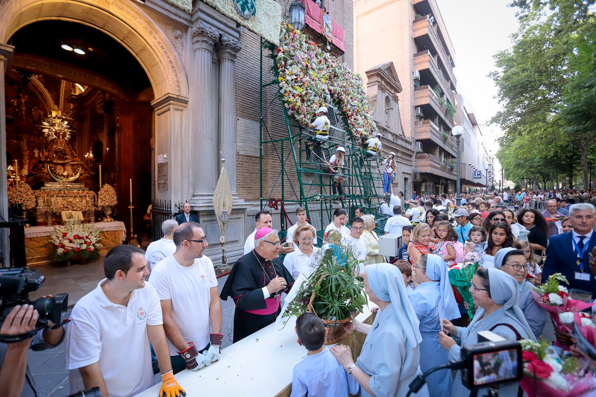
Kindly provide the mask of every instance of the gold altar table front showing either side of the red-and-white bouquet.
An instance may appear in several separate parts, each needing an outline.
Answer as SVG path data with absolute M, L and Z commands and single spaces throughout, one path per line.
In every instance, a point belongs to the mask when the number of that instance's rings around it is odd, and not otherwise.
M 123 222 L 92 223 L 95 229 L 100 229 L 101 247 L 100 255 L 107 254 L 110 249 L 122 244 L 126 239 L 126 227 Z M 53 226 L 34 226 L 25 228 L 25 254 L 27 266 L 39 266 L 50 263 L 49 254 L 55 246 L 48 241 L 54 232 Z

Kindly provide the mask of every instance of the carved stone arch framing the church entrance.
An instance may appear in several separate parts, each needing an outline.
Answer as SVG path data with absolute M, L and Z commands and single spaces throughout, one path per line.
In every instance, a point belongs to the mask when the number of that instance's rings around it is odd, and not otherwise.
M 168 151 L 180 133 L 185 133 L 179 120 L 187 109 L 189 87 L 179 48 L 142 7 L 134 2 L 113 0 L 0 0 L 0 14 L 0 215 L 5 219 L 8 199 L 4 73 L 14 51 L 7 42 L 24 26 L 62 20 L 92 27 L 112 37 L 136 58 L 150 80 L 156 98 L 152 102 L 156 142 L 159 140 Z M 157 171 L 153 180 L 157 180 Z M 166 193 L 171 195 L 172 191 Z M 8 258 L 7 229 L 0 229 L 0 250 Z

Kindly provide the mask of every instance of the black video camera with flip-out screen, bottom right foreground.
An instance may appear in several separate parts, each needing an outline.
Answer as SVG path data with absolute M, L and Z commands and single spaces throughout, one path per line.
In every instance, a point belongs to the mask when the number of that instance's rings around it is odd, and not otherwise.
M 417 393 L 429 374 L 445 368 L 461 370 L 461 383 L 470 390 L 491 388 L 491 396 L 498 395 L 493 390 L 495 386 L 522 380 L 522 345 L 517 340 L 507 340 L 490 331 L 482 331 L 478 333 L 478 342 L 461 348 L 460 361 L 439 365 L 416 377 L 409 385 L 408 395 Z

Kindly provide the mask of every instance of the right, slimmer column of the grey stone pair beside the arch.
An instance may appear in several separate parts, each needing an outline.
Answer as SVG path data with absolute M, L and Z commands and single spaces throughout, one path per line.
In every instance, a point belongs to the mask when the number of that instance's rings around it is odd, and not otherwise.
M 219 56 L 219 151 L 225 151 L 229 186 L 236 194 L 236 96 L 234 61 L 242 45 L 236 39 L 222 36 Z

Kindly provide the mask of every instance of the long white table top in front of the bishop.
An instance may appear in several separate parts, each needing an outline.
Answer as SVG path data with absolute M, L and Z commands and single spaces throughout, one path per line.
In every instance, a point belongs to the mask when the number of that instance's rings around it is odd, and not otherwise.
M 365 321 L 371 315 L 369 307 L 356 320 Z M 221 359 L 209 367 L 184 370 L 175 375 L 176 380 L 188 397 L 275 396 L 290 385 L 294 365 L 306 356 L 306 349 L 296 342 L 295 324 L 296 317 L 281 330 L 277 323 L 271 324 L 223 349 Z M 154 385 L 137 396 L 156 397 L 161 386 Z

